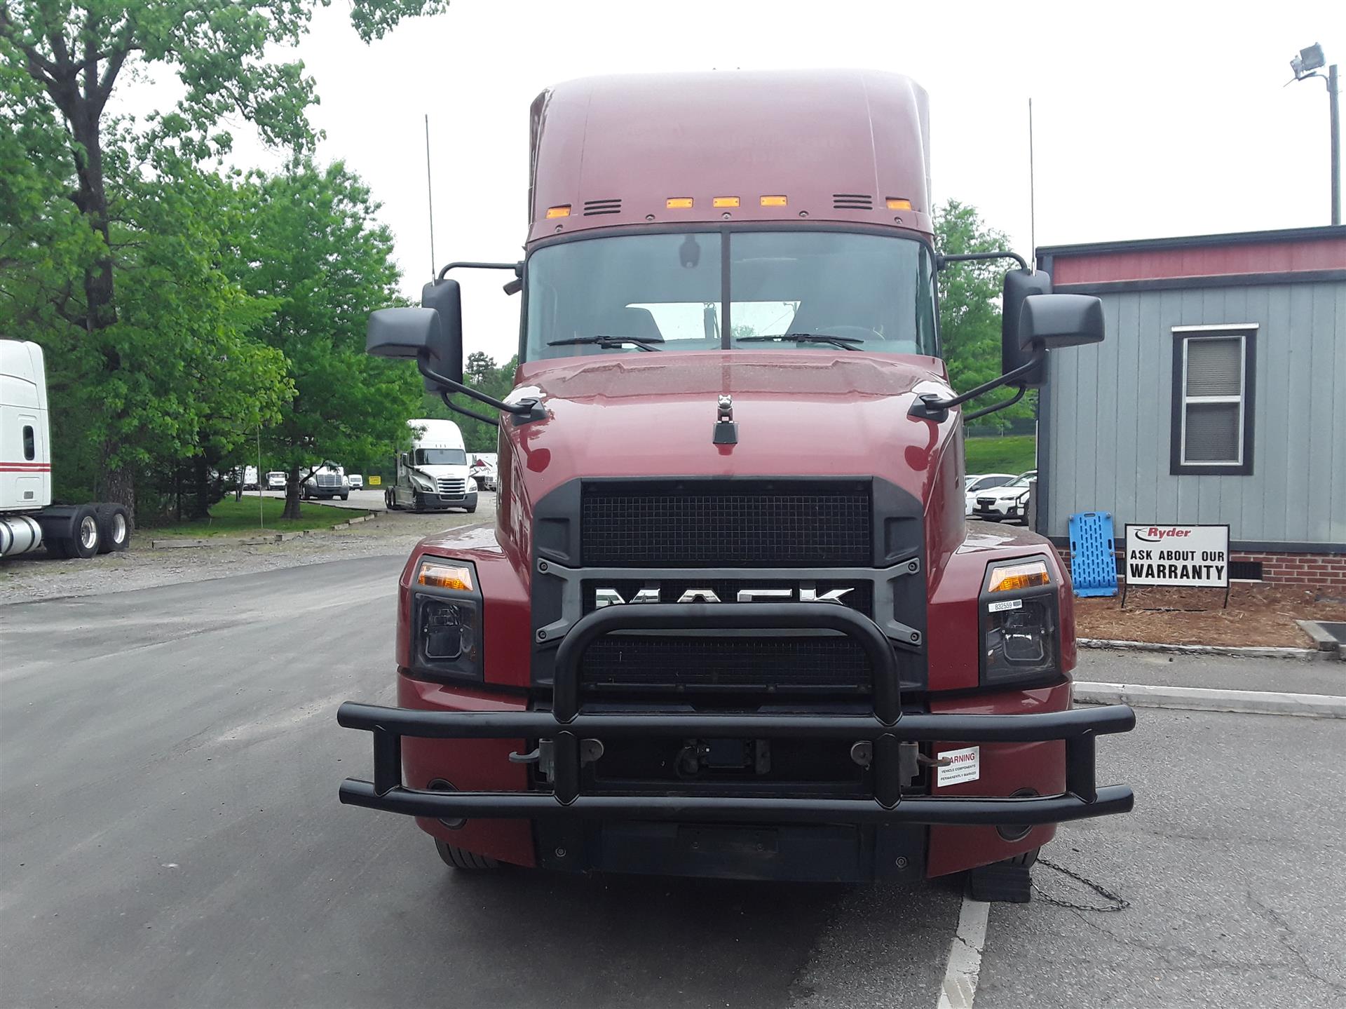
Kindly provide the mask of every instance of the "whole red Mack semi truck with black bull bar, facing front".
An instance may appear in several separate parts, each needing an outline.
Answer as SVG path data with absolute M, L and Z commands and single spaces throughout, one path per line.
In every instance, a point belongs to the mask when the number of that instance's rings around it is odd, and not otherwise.
M 1102 339 L 1101 304 L 1019 260 L 1001 377 L 950 388 L 927 123 L 884 73 L 538 96 L 522 261 L 369 321 L 498 423 L 499 493 L 491 546 L 408 559 L 398 706 L 341 706 L 374 749 L 342 802 L 458 869 L 973 870 L 1001 900 L 1057 823 L 1131 810 L 1094 748 L 1135 714 L 1071 705 L 1054 548 L 964 516 L 962 405 Z M 463 381 L 462 269 L 522 294 L 503 400 Z

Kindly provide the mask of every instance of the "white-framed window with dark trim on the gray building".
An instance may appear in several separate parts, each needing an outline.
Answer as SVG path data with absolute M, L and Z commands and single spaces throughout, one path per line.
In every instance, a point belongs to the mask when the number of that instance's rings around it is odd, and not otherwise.
M 1175 326 L 1170 471 L 1253 471 L 1256 323 Z

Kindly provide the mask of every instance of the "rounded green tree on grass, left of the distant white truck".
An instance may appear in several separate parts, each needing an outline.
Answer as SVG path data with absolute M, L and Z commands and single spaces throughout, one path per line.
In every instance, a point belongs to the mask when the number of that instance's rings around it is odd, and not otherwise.
M 272 307 L 253 333 L 284 356 L 295 395 L 262 430 L 262 454 L 288 471 L 284 516 L 297 517 L 316 466 L 362 465 L 408 439 L 421 380 L 365 353 L 369 313 L 397 300 L 398 280 L 369 189 L 341 162 L 307 160 L 246 187 L 245 234 L 226 268 Z

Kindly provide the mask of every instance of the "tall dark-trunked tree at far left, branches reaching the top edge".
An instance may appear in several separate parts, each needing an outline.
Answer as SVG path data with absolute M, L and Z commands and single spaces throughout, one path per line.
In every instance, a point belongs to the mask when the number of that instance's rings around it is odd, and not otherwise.
M 351 0 L 350 16 L 367 42 L 447 3 Z M 48 335 L 63 325 L 63 349 L 81 358 L 81 380 L 106 415 L 97 454 L 110 500 L 135 507 L 135 469 L 157 434 L 133 399 L 145 383 L 125 373 L 147 354 L 174 369 L 171 350 L 151 346 L 164 326 L 120 325 L 129 306 L 118 291 L 117 206 L 133 202 L 120 190 L 145 178 L 128 155 L 137 141 L 188 164 L 222 155 L 232 137 L 218 125 L 229 115 L 268 143 L 310 151 L 314 81 L 303 63 L 269 57 L 303 36 L 318 5 L 327 0 L 0 0 L 0 133 L 22 137 L 0 143 L 0 179 L 20 198 L 0 220 L 0 269 L 20 268 L 7 294 L 31 299 L 19 307 L 36 310 Z M 176 74 L 178 106 L 139 127 L 109 116 L 118 79 L 145 67 Z

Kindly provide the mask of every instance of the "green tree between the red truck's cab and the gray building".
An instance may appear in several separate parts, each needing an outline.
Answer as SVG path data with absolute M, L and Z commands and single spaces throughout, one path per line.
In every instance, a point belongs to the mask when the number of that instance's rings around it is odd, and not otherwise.
M 935 248 L 945 255 L 999 252 L 1010 238 L 988 226 L 975 206 L 949 199 L 935 210 Z M 956 391 L 970 389 L 1000 375 L 1000 294 L 1007 260 L 950 263 L 940 271 L 940 342 Z M 965 410 L 1007 397 L 1005 389 L 972 400 Z M 1034 393 L 1015 407 L 991 414 L 987 423 L 1032 416 Z

